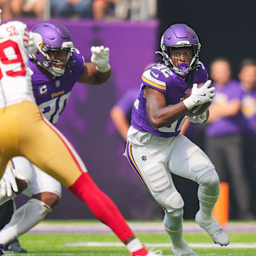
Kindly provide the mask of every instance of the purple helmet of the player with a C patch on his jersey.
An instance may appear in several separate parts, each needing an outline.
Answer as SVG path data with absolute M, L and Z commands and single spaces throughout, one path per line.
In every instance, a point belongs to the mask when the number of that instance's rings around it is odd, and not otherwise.
M 71 58 L 75 46 L 68 28 L 55 21 L 44 21 L 33 26 L 31 32 L 41 34 L 43 43 L 30 57 L 53 76 L 63 75 L 66 68 L 71 72 L 70 66 L 75 61 Z

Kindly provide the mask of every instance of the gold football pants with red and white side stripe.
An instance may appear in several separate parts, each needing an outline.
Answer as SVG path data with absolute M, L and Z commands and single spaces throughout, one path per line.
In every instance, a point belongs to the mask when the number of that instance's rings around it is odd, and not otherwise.
M 28 100 L 0 108 L 0 177 L 14 156 L 24 156 L 70 187 L 86 172 L 78 153 L 63 134 Z

